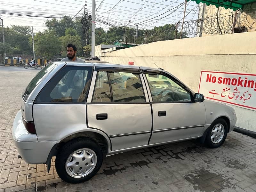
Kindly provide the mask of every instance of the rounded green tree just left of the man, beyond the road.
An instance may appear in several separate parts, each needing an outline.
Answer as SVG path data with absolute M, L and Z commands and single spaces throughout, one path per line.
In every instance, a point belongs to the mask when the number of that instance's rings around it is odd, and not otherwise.
M 45 30 L 44 33 L 36 33 L 34 42 L 36 53 L 43 58 L 59 56 L 61 44 L 54 31 Z

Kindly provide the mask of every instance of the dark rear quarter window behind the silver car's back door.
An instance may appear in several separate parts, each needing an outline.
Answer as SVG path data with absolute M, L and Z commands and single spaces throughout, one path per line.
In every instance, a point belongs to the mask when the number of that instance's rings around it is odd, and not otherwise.
M 44 86 L 35 102 L 84 102 L 91 79 L 91 73 L 91 67 L 64 67 Z

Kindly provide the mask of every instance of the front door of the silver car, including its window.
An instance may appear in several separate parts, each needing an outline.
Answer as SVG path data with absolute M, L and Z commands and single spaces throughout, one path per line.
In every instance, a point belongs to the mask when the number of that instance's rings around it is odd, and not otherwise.
M 169 74 L 150 70 L 143 73 L 153 111 L 149 144 L 199 137 L 206 119 L 204 103 L 193 102 L 189 89 Z

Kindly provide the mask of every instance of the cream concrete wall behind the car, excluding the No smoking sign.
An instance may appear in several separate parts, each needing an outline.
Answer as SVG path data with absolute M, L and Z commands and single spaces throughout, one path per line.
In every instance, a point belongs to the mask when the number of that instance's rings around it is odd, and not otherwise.
M 159 41 L 113 52 L 101 53 L 101 60 L 116 64 L 164 68 L 195 92 L 201 70 L 256 74 L 256 33 L 204 36 Z M 154 65 L 154 63 L 156 65 Z M 236 126 L 256 132 L 256 111 L 232 106 Z

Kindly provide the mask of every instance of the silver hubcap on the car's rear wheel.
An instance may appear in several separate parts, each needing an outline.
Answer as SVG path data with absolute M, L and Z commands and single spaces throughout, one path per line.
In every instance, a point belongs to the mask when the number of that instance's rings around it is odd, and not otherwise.
M 92 149 L 82 148 L 73 152 L 67 159 L 65 168 L 69 176 L 81 178 L 95 168 L 97 156 Z

